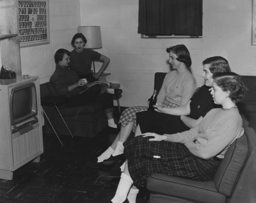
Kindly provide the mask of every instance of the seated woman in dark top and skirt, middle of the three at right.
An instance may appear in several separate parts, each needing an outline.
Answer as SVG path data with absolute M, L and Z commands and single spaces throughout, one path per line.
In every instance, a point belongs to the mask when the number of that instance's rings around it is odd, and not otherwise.
M 156 105 L 155 108 L 158 112 L 137 113 L 136 135 L 144 132 L 171 134 L 182 132 L 198 125 L 207 112 L 219 107 L 214 104 L 209 91 L 213 84 L 213 74 L 230 71 L 229 63 L 225 58 L 221 56 L 206 58 L 203 61 L 202 75 L 205 85 L 197 90 L 185 106 L 165 108 Z

